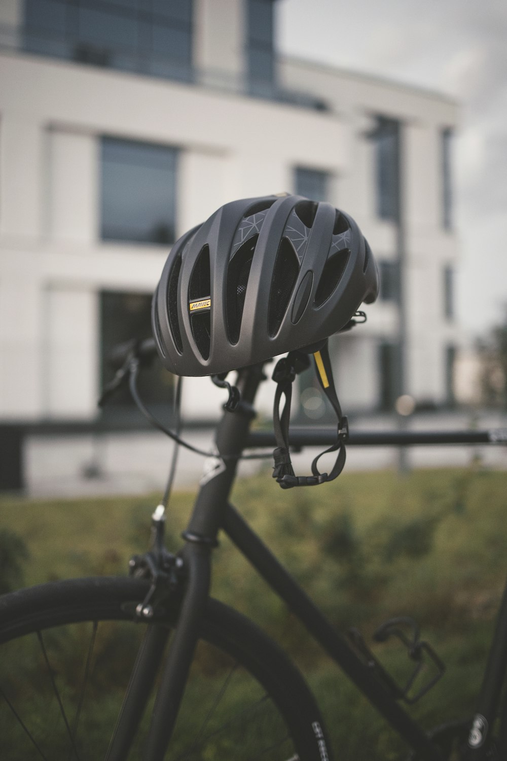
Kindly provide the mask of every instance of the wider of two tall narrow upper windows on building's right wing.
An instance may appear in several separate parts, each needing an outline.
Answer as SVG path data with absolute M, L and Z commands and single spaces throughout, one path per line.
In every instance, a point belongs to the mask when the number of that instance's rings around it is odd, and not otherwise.
M 381 219 L 400 215 L 400 123 L 379 116 L 370 133 L 375 147 L 376 212 Z

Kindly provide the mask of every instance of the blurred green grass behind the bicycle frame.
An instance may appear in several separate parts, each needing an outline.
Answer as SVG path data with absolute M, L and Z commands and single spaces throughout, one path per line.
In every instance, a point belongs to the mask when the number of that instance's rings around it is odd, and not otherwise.
M 467 470 L 345 473 L 319 489 L 282 492 L 268 475 L 236 484 L 233 501 L 306 591 L 344 631 L 367 642 L 391 616 L 410 615 L 445 661 L 445 677 L 414 709 L 427 726 L 463 718 L 486 658 L 507 564 L 507 475 Z M 2 498 L 2 530 L 22 537 L 24 578 L 116 574 L 147 546 L 157 496 L 32 501 Z M 188 519 L 192 495 L 173 496 L 168 546 Z M 2 568 L 2 564 L 0 564 Z M 284 643 L 312 685 L 341 759 L 395 759 L 401 747 L 356 689 L 223 537 L 215 597 L 248 612 Z M 394 642 L 372 646 L 398 677 L 410 661 Z M 337 721 L 337 717 L 339 721 Z

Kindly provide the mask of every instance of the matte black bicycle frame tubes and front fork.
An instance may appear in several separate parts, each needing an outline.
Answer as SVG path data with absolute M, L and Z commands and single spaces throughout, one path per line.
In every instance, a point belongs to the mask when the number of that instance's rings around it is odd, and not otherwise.
M 261 366 L 253 366 L 239 371 L 237 386 L 241 392 L 241 403 L 235 412 L 224 412 L 217 428 L 217 457 L 211 462 L 207 475 L 201 480 L 201 488 L 195 501 L 189 525 L 182 534 L 185 547 L 181 556 L 185 563 L 187 581 L 182 610 L 176 624 L 170 653 L 163 667 L 160 689 L 157 693 L 151 731 L 148 737 L 146 761 L 160 761 L 169 743 L 179 703 L 185 689 L 189 667 L 198 638 L 198 626 L 204 604 L 208 597 L 211 578 L 211 550 L 217 546 L 217 535 L 224 530 L 239 552 L 249 560 L 255 570 L 270 587 L 287 603 L 310 634 L 341 667 L 350 680 L 383 715 L 391 727 L 401 736 L 410 749 L 417 751 L 419 759 L 438 761 L 442 759 L 440 750 L 426 732 L 401 708 L 388 687 L 379 680 L 369 666 L 361 660 L 347 639 L 338 633 L 312 600 L 280 565 L 274 555 L 246 524 L 239 513 L 230 505 L 230 491 L 236 477 L 236 466 L 242 451 L 248 446 L 268 446 L 274 444 L 273 435 L 265 432 L 250 432 L 250 424 L 255 417 L 253 402 L 258 385 L 264 378 Z M 336 435 L 334 433 L 334 435 Z M 296 431 L 291 435 L 291 443 L 296 446 L 330 444 L 334 441 L 331 431 Z M 369 437 L 369 440 L 368 440 Z M 354 438 L 356 441 L 354 441 Z M 366 440 L 365 440 L 366 438 Z M 442 444 L 442 443 L 503 443 L 507 441 L 506 431 L 456 431 L 423 434 L 410 431 L 395 431 L 388 434 L 350 435 L 350 444 Z M 154 627 L 157 632 L 157 627 Z M 160 633 L 152 635 L 154 645 L 145 645 L 146 668 L 136 667 L 129 686 L 124 713 L 116 728 L 108 761 L 119 761 L 124 756 L 125 747 L 132 741 L 132 721 L 128 715 L 140 712 L 147 702 L 147 696 L 154 683 L 157 664 L 162 658 Z M 477 715 L 484 720 L 486 728 L 493 724 L 494 711 L 499 700 L 507 667 L 507 591 L 502 600 L 499 621 L 493 638 L 483 688 L 477 704 Z M 141 657 L 141 656 L 140 656 Z M 148 677 L 146 674 L 149 672 Z M 128 712 L 129 701 L 134 706 Z M 482 741 L 471 747 L 471 759 L 482 759 L 485 749 Z M 125 755 L 125 754 L 124 754 Z

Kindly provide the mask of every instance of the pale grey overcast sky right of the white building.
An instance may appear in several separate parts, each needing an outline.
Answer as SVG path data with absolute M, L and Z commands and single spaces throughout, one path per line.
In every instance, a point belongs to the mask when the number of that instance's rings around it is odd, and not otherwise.
M 507 0 L 279 0 L 277 34 L 283 53 L 461 102 L 457 310 L 486 333 L 507 308 Z

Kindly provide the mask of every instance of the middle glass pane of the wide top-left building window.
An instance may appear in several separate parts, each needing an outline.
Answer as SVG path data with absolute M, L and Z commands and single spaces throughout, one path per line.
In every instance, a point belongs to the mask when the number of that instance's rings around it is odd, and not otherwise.
M 135 49 L 138 27 L 134 17 L 95 8 L 79 8 L 78 36 L 81 42 L 109 49 Z

